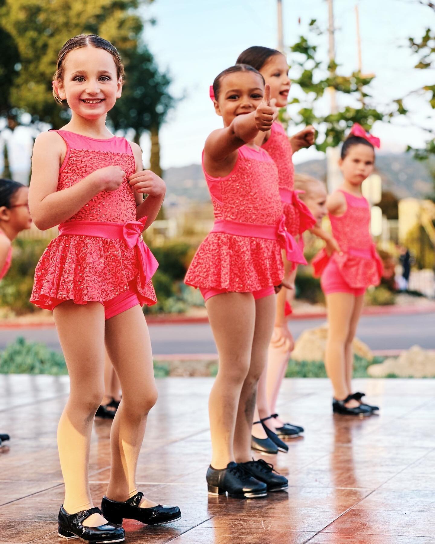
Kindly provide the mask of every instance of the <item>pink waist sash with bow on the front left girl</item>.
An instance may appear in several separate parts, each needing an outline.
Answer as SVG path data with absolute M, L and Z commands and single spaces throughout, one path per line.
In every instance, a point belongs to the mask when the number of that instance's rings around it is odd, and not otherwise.
M 59 225 L 59 236 L 76 234 L 78 236 L 93 236 L 109 240 L 124 240 L 128 248 L 134 248 L 138 259 L 140 286 L 144 289 L 159 265 L 156 257 L 142 239 L 142 231 L 146 220 L 146 217 L 142 217 L 138 221 L 127 221 L 126 223 L 71 221 Z

